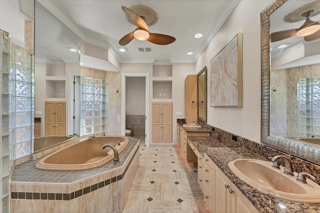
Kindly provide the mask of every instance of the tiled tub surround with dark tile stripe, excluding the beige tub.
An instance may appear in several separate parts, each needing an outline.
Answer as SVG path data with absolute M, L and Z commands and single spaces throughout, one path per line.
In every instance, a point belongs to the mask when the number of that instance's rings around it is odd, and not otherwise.
M 89 170 L 38 170 L 36 159 L 15 166 L 11 212 L 120 212 L 139 166 L 138 141 L 129 137 L 119 163 Z

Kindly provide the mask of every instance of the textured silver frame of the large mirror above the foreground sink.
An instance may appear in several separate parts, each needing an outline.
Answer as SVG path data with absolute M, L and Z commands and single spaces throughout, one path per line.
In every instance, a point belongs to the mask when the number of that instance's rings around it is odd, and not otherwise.
M 261 143 L 320 165 L 320 148 L 269 135 L 269 15 L 287 0 L 273 0 L 260 12 L 261 39 Z

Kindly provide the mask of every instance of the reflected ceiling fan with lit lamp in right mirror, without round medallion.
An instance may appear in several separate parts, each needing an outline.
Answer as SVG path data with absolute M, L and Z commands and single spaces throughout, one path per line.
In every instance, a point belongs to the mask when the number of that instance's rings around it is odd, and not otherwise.
M 308 10 L 301 14 L 305 17 L 304 23 L 297 29 L 287 29 L 270 34 L 271 42 L 283 40 L 285 38 L 292 37 L 294 35 L 304 36 L 305 41 L 312 41 L 320 38 L 320 23 L 319 21 L 312 21 L 309 16 L 314 10 Z

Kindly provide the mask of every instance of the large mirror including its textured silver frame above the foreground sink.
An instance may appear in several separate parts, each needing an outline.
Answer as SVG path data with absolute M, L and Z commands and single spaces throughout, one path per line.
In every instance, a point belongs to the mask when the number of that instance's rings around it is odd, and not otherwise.
M 260 13 L 261 142 L 316 164 L 320 164 L 319 19 L 318 0 L 274 0 Z M 305 26 L 305 21 L 314 22 Z M 307 28 L 310 23 L 313 31 Z

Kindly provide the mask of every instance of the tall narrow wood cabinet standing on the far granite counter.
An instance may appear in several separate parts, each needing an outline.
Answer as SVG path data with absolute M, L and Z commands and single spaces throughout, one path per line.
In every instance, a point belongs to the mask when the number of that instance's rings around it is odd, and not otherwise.
M 189 74 L 184 80 L 184 119 L 186 123 L 192 123 L 198 119 L 197 108 L 197 75 Z

